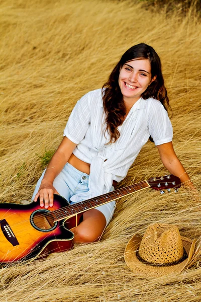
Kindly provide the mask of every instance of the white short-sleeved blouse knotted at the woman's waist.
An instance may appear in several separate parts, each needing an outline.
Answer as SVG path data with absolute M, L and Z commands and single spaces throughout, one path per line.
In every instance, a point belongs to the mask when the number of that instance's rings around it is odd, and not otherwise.
M 113 180 L 123 180 L 150 135 L 155 145 L 172 140 L 172 125 L 167 112 L 153 98 L 140 98 L 133 105 L 118 127 L 120 137 L 109 145 L 105 118 L 102 90 L 97 89 L 77 102 L 66 124 L 64 136 L 77 144 L 73 154 L 90 164 L 89 191 L 72 196 L 73 202 L 108 193 Z

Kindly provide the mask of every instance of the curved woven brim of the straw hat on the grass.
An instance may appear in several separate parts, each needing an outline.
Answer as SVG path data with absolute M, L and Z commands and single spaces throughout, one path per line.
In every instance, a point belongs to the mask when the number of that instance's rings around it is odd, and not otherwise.
M 188 255 L 188 258 L 186 258 L 179 264 L 175 264 L 172 266 L 152 266 L 142 263 L 140 260 L 138 260 L 136 256 L 136 251 L 142 241 L 142 237 L 140 235 L 135 235 L 130 239 L 125 249 L 124 259 L 130 270 L 138 277 L 160 277 L 163 275 L 180 272 L 184 269 L 185 266 L 187 266 L 187 264 L 192 259 L 196 242 L 196 239 L 191 240 L 182 236 L 181 240 L 183 243 L 183 247 Z

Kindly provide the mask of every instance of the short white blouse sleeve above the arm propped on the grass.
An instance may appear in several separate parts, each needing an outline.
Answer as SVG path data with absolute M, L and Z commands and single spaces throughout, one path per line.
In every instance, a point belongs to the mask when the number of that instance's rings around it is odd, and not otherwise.
M 160 145 L 172 141 L 172 124 L 167 111 L 160 101 L 150 102 L 148 116 L 148 130 L 152 136 L 155 145 Z

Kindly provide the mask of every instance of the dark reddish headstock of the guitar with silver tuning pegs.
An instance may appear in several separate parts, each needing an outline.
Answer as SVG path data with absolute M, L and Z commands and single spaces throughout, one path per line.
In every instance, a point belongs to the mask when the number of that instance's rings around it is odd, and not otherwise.
M 175 192 L 181 186 L 181 181 L 177 176 L 172 174 L 161 177 L 153 177 L 147 180 L 150 187 L 154 190 L 160 191 L 161 194 L 165 193 L 165 189 L 170 193 L 173 188 Z

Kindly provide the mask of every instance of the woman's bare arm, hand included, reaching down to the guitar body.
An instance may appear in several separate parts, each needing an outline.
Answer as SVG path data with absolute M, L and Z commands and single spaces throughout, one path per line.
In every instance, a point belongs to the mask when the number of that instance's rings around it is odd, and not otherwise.
M 49 205 L 53 206 L 53 194 L 58 194 L 56 189 L 53 187 L 53 181 L 61 172 L 64 165 L 68 162 L 75 147 L 76 144 L 64 136 L 49 165 L 47 166 L 47 170 L 41 182 L 39 191 L 34 198 L 34 201 L 37 201 L 38 197 L 40 196 L 41 206 L 44 206 L 44 202 L 45 208 L 48 208 Z

